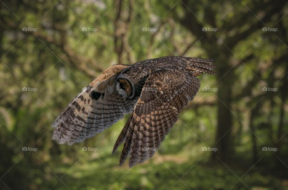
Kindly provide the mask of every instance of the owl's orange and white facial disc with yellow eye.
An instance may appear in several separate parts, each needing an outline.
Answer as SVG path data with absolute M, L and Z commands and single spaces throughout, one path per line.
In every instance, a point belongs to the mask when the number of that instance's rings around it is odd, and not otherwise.
M 130 99 L 134 96 L 133 85 L 128 79 L 118 78 L 115 85 L 116 93 L 123 98 Z

